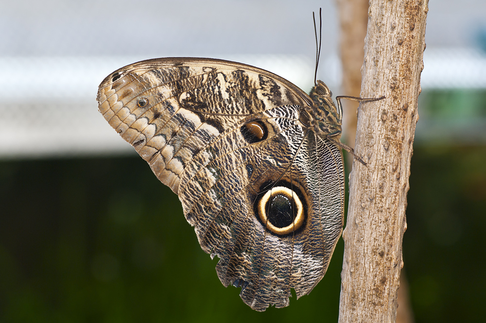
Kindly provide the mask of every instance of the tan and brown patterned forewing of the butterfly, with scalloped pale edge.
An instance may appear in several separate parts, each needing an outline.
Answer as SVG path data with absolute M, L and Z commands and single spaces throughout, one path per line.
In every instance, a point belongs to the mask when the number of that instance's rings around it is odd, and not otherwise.
M 310 102 L 295 85 L 268 71 L 200 58 L 161 58 L 120 68 L 101 83 L 97 99 L 104 118 L 175 193 L 181 169 L 226 130 L 276 106 Z

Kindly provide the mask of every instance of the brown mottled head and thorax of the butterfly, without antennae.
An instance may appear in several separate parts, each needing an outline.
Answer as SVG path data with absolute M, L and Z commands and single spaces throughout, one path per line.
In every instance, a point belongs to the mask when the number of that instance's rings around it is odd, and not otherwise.
M 332 102 L 332 92 L 322 81 L 312 87 L 309 94 L 312 99 L 311 115 L 312 126 L 316 134 L 321 136 L 340 136 L 342 124 L 342 109 Z

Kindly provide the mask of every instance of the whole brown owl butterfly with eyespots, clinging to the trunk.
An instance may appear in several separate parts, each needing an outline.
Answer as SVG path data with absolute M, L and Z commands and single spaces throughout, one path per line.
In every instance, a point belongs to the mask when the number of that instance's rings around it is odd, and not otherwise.
M 118 69 L 97 101 L 178 195 L 223 285 L 263 311 L 308 294 L 341 236 L 352 150 L 339 141 L 345 97 L 331 96 L 322 81 L 308 95 L 260 68 L 179 57 Z

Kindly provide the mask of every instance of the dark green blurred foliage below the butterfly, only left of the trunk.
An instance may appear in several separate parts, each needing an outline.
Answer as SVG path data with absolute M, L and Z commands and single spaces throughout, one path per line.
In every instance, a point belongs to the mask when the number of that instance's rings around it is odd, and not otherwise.
M 337 321 L 342 241 L 310 296 L 255 312 L 138 156 L 1 162 L 0 195 L 0 322 Z

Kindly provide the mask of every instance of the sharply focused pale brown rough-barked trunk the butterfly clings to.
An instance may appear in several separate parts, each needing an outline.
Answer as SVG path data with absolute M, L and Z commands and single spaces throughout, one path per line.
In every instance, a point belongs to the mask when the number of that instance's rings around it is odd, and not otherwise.
M 349 183 L 340 322 L 396 322 L 427 0 L 370 0 Z

